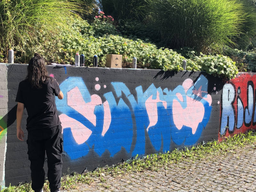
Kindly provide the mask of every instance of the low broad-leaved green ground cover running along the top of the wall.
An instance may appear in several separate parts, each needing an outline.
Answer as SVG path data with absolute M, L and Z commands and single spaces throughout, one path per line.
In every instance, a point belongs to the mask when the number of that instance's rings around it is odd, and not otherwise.
M 95 21 L 98 22 L 98 21 Z M 102 21 L 105 25 L 106 22 Z M 62 36 L 53 36 L 52 41 L 48 37 L 43 37 L 40 43 L 30 52 L 26 52 L 26 58 L 32 57 L 34 52 L 44 56 L 47 63 L 71 63 L 74 64 L 74 56 L 77 51 L 85 56 L 85 65 L 92 65 L 94 54 L 98 55 L 99 66 L 104 67 L 106 54 L 122 54 L 123 66 L 131 66 L 132 58 L 137 57 L 138 68 L 152 68 L 180 71 L 182 61 L 187 60 L 187 70 L 205 70 L 209 74 L 216 76 L 226 76 L 233 78 L 237 68 L 231 59 L 224 56 L 195 56 L 186 59 L 179 53 L 171 49 L 158 49 L 156 45 L 142 41 L 140 39 L 128 39 L 118 35 L 97 36 L 94 25 L 89 25 L 87 21 L 68 21 L 70 30 L 62 30 Z M 61 30 L 61 28 L 60 28 Z M 56 49 L 52 49 L 56 47 Z M 25 57 L 19 55 L 21 47 L 15 47 L 15 62 L 26 61 Z M 1 55 L 0 55 L 1 56 Z M 208 69 L 209 67 L 209 69 Z

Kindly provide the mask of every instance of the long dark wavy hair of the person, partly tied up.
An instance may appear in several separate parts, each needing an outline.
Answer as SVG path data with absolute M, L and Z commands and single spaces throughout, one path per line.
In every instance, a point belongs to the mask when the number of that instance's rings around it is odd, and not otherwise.
M 43 57 L 35 53 L 34 57 L 30 59 L 28 63 L 28 76 L 26 79 L 30 82 L 32 87 L 40 89 L 42 88 L 42 84 L 49 78 Z

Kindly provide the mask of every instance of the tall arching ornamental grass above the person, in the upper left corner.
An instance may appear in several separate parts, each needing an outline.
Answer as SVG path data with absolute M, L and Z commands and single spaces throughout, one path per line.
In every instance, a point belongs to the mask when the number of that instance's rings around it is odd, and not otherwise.
M 19 46 L 22 53 L 33 50 L 41 38 L 69 30 L 66 20 L 78 19 L 82 1 L 67 0 L 1 0 L 0 52 Z M 26 48 L 25 48 L 26 47 Z M 26 53 L 27 54 L 27 53 Z

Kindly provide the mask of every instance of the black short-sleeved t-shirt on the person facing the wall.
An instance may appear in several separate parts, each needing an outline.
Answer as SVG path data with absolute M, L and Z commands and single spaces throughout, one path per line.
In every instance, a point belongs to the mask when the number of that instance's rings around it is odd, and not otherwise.
M 55 96 L 60 93 L 60 87 L 54 78 L 49 78 L 42 88 L 32 87 L 28 80 L 19 84 L 16 102 L 24 103 L 28 112 L 27 129 L 51 128 L 60 125 Z M 54 96 L 55 95 L 55 96 Z

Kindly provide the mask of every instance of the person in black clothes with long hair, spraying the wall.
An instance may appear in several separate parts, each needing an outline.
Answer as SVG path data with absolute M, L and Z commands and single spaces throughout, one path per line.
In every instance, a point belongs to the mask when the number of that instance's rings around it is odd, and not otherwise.
M 45 152 L 48 163 L 48 180 L 51 192 L 60 191 L 62 170 L 62 127 L 58 117 L 55 96 L 63 99 L 59 84 L 48 76 L 43 58 L 36 53 L 28 64 L 28 76 L 19 84 L 16 102 L 17 138 L 24 141 L 21 120 L 24 107 L 28 112 L 28 159 L 31 169 L 31 187 L 43 192 Z

